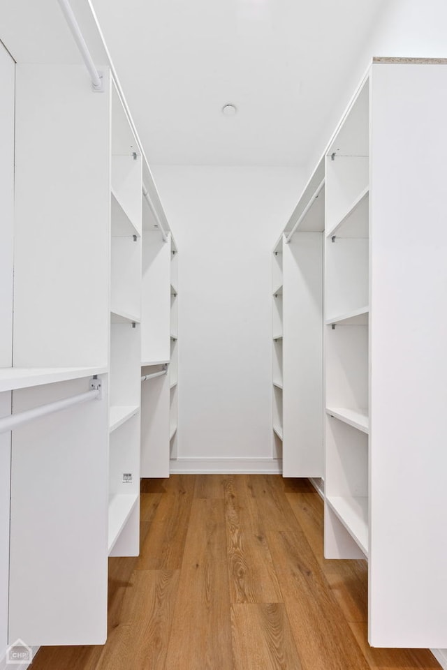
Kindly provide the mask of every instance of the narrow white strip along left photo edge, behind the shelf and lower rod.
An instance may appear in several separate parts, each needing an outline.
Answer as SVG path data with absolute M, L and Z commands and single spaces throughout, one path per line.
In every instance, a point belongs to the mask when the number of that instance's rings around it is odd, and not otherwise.
M 0 367 L 13 359 L 14 61 L 0 44 Z M 0 416 L 11 394 L 0 394 Z M 8 641 L 10 433 L 0 435 L 0 658 Z

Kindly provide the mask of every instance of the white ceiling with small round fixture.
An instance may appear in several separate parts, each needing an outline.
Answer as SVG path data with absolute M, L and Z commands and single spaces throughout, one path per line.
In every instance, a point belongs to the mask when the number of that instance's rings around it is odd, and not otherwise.
M 302 165 L 385 2 L 93 5 L 149 163 Z

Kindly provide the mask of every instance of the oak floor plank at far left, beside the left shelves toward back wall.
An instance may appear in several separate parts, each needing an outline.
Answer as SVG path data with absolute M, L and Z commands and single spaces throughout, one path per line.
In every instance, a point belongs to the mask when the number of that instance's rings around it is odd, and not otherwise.
M 138 570 L 176 570 L 182 565 L 195 477 L 186 481 L 177 477 L 172 477 L 170 492 L 163 493 L 155 510 L 135 566 Z

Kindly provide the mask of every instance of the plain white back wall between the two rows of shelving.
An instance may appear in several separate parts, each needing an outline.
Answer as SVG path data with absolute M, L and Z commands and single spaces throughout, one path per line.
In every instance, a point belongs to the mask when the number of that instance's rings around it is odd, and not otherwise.
M 179 459 L 261 468 L 272 459 L 271 253 L 300 172 L 163 166 L 154 177 L 179 247 Z

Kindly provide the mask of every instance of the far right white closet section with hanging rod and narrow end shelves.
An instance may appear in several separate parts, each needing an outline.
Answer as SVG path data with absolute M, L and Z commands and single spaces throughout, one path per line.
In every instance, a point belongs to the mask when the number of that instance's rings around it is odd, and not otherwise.
M 273 430 L 285 477 L 323 475 L 324 221 L 322 162 L 274 249 Z

